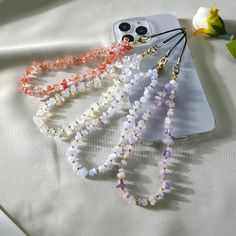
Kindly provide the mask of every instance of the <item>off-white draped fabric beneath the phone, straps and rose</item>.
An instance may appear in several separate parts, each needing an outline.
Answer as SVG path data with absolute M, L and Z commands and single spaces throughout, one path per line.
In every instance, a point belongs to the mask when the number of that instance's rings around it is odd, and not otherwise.
M 236 3 L 229 0 L 0 0 L 0 204 L 28 235 L 235 235 L 236 62 L 225 41 L 191 36 L 198 7 L 212 5 L 236 34 Z M 164 12 L 175 14 L 187 27 L 216 129 L 176 143 L 171 167 L 175 189 L 150 210 L 131 207 L 117 196 L 113 176 L 93 181 L 75 176 L 65 161 L 67 144 L 38 132 L 32 122 L 38 101 L 19 94 L 16 82 L 32 59 L 108 45 L 114 21 Z M 79 103 L 71 108 L 80 111 Z M 63 111 L 73 116 L 77 110 Z M 114 127 L 103 135 L 87 143 L 90 158 L 98 153 L 92 159 L 97 163 L 115 142 Z M 158 184 L 156 148 L 144 145 L 137 153 L 130 163 L 133 189 L 151 192 Z

